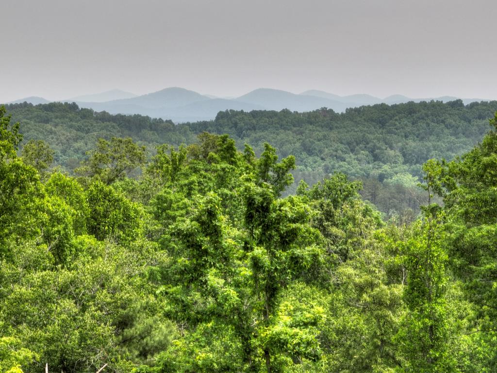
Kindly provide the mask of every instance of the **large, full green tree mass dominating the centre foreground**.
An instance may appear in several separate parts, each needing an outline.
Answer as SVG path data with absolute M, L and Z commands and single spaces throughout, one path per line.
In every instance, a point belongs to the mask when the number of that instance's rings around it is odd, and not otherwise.
M 244 157 L 224 136 L 200 140 L 188 171 L 152 203 L 173 259 L 162 290 L 166 314 L 186 325 L 185 337 L 163 354 L 162 371 L 274 372 L 318 360 L 321 316 L 299 323 L 279 306 L 287 286 L 310 280 L 304 274 L 321 260 L 304 200 L 277 198 L 293 159 L 277 163 L 269 146 L 261 160 Z M 200 175 L 209 182 L 194 190 L 205 194 L 186 199 L 191 190 L 181 178 Z

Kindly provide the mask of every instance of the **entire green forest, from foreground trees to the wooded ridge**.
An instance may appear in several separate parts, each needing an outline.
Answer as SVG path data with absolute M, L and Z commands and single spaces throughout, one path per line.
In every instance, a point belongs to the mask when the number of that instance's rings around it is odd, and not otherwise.
M 0 106 L 0 372 L 496 372 L 496 206 L 497 101 Z

